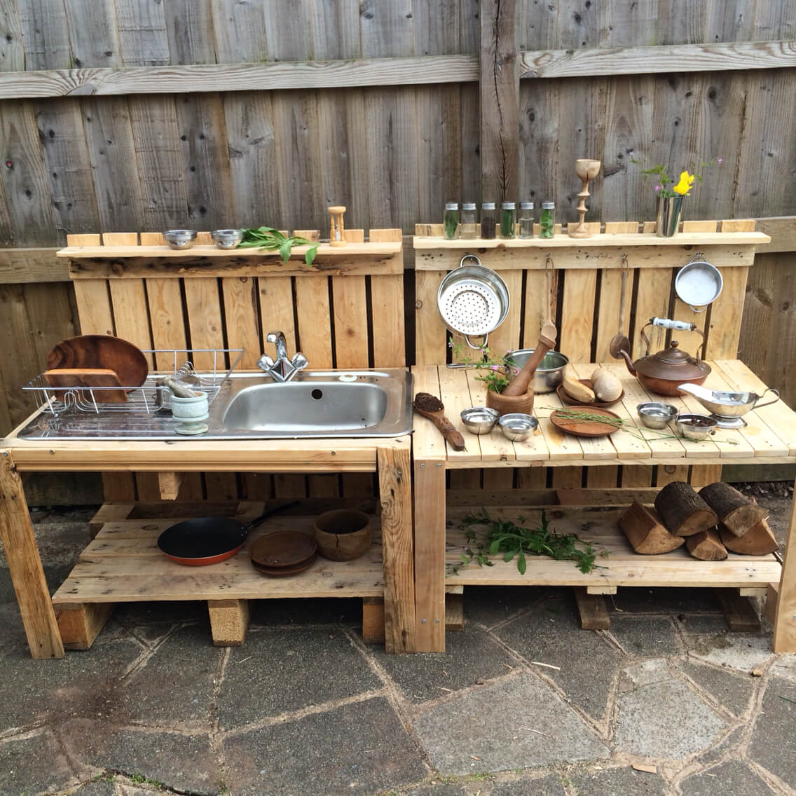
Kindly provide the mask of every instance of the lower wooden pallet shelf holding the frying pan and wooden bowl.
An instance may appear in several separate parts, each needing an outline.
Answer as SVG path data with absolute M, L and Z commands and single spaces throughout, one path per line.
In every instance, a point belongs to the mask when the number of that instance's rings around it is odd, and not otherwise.
M 252 517 L 257 513 L 259 510 Z M 242 521 L 248 518 L 241 513 L 236 516 Z M 318 557 L 306 572 L 285 578 L 269 578 L 257 572 L 248 549 L 264 533 L 286 529 L 312 533 L 314 517 L 271 517 L 262 529 L 252 531 L 236 556 L 209 567 L 183 567 L 158 550 L 160 533 L 184 518 L 126 517 L 106 521 L 53 595 L 53 605 L 384 596 L 378 517 L 372 517 L 373 545 L 365 556 L 340 562 Z

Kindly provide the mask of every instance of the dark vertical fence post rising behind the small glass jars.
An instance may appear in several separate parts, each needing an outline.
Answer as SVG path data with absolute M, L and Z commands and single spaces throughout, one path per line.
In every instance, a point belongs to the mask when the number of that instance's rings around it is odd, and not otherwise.
M 519 88 L 516 0 L 481 0 L 481 193 L 514 201 L 519 190 Z M 498 205 L 499 209 L 500 205 Z

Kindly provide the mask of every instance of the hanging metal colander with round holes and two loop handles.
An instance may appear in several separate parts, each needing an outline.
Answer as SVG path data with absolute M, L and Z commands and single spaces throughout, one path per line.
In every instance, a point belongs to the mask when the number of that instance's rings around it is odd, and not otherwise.
M 465 265 L 466 259 L 474 265 Z M 447 329 L 462 334 L 472 349 L 482 349 L 509 312 L 509 288 L 500 275 L 482 266 L 478 257 L 466 254 L 437 291 L 437 308 Z M 484 338 L 474 345 L 470 337 Z

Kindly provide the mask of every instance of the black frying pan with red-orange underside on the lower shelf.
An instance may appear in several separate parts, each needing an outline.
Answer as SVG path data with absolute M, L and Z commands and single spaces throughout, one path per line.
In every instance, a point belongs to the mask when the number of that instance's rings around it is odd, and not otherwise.
M 170 525 L 158 537 L 158 548 L 177 564 L 186 567 L 205 567 L 232 558 L 244 546 L 252 528 L 267 517 L 295 505 L 285 503 L 269 509 L 244 525 L 232 517 L 193 517 L 177 525 Z

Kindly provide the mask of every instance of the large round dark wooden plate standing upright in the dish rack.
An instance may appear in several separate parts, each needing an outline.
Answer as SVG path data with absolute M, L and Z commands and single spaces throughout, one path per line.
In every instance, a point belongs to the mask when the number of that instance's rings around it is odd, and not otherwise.
M 131 342 L 107 334 L 81 334 L 57 343 L 47 354 L 47 369 L 107 368 L 123 387 L 140 387 L 149 373 L 146 357 Z

